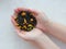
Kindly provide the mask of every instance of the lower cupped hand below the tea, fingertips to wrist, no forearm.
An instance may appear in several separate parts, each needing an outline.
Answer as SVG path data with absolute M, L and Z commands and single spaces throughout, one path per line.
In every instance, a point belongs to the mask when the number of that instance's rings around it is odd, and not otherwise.
M 33 40 L 36 40 L 38 36 L 42 36 L 43 35 L 42 30 L 38 29 L 38 28 L 33 28 L 31 32 L 21 30 L 15 25 L 15 21 L 14 21 L 13 16 L 11 17 L 11 21 L 12 21 L 12 23 L 14 25 L 15 32 L 24 40 L 28 40 L 28 41 L 31 41 L 32 40 L 33 41 Z

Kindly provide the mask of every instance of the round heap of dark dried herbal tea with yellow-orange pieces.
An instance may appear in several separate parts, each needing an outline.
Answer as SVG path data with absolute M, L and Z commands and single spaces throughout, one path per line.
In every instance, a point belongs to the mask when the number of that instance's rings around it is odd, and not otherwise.
M 20 11 L 15 17 L 15 22 L 18 23 L 18 27 L 25 32 L 32 30 L 37 24 L 36 19 L 29 11 Z

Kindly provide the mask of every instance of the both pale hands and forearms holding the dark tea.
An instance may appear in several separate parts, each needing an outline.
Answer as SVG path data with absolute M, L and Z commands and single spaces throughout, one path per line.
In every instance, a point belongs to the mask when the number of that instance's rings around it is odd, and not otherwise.
M 20 30 L 16 26 L 16 22 L 14 21 L 19 11 L 31 11 L 34 13 L 34 16 L 37 20 L 36 27 L 31 32 Z M 41 12 L 25 8 L 15 9 L 14 14 L 11 17 L 11 22 L 15 27 L 16 34 L 26 41 L 38 46 L 40 49 L 61 49 L 56 46 L 45 33 L 53 35 L 59 40 L 66 42 L 66 26 L 63 26 L 57 23 L 53 23 L 47 16 Z

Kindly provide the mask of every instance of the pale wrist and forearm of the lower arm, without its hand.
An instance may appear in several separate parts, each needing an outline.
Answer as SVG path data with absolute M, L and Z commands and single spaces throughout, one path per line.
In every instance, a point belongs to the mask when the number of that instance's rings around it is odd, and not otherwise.
M 35 42 L 42 49 L 59 49 L 46 35 L 38 37 Z

